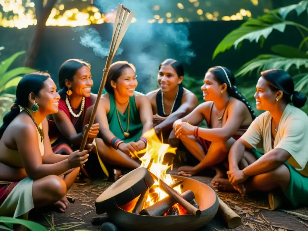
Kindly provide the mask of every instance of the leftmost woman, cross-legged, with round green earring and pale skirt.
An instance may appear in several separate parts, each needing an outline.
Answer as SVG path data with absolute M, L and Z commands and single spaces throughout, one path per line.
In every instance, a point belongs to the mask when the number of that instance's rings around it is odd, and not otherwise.
M 26 218 L 33 208 L 53 205 L 61 212 L 88 151 L 55 154 L 46 116 L 58 112 L 60 96 L 50 75 L 22 77 L 16 99 L 0 128 L 0 216 Z

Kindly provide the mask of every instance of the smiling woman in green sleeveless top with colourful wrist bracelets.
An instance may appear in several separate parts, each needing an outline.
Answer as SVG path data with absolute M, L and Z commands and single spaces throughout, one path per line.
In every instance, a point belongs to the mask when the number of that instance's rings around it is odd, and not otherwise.
M 153 113 L 148 97 L 135 91 L 136 69 L 127 61 L 110 66 L 105 90 L 96 112 L 95 123 L 100 125 L 95 142 L 104 163 L 129 169 L 140 167 L 132 157 L 146 148 L 144 132 L 153 128 Z M 92 111 L 87 110 L 88 121 Z M 120 174 L 115 174 L 115 180 Z

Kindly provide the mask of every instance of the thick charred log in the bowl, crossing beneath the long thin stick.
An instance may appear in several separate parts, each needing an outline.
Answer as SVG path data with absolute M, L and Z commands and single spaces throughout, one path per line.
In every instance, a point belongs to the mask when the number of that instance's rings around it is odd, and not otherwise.
M 191 190 L 187 190 L 181 194 L 186 201 L 193 201 L 195 194 Z M 165 197 L 161 201 L 156 202 L 154 205 L 149 206 L 146 209 L 141 210 L 140 215 L 146 216 L 161 216 L 167 213 L 168 209 L 176 204 L 176 201 L 172 197 Z

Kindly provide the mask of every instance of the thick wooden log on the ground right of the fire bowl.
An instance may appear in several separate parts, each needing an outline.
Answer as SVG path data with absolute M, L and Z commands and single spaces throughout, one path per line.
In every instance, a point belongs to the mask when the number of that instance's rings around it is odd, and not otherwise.
M 242 222 L 241 217 L 237 215 L 219 197 L 218 197 L 218 202 L 219 202 L 218 213 L 225 219 L 225 221 L 227 222 L 228 228 L 233 229 L 241 225 L 241 222 Z

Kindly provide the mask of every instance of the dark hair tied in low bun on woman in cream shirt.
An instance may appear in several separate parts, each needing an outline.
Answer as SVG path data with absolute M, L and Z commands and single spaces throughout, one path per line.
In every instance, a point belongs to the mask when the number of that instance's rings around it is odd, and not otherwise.
M 282 100 L 285 103 L 292 102 L 292 104 L 298 108 L 301 108 L 305 105 L 307 101 L 306 96 L 298 91 L 294 91 L 293 79 L 286 71 L 281 69 L 272 69 L 262 71 L 261 75 L 270 83 L 270 89 L 273 92 L 277 92 L 279 90 L 283 92 Z

